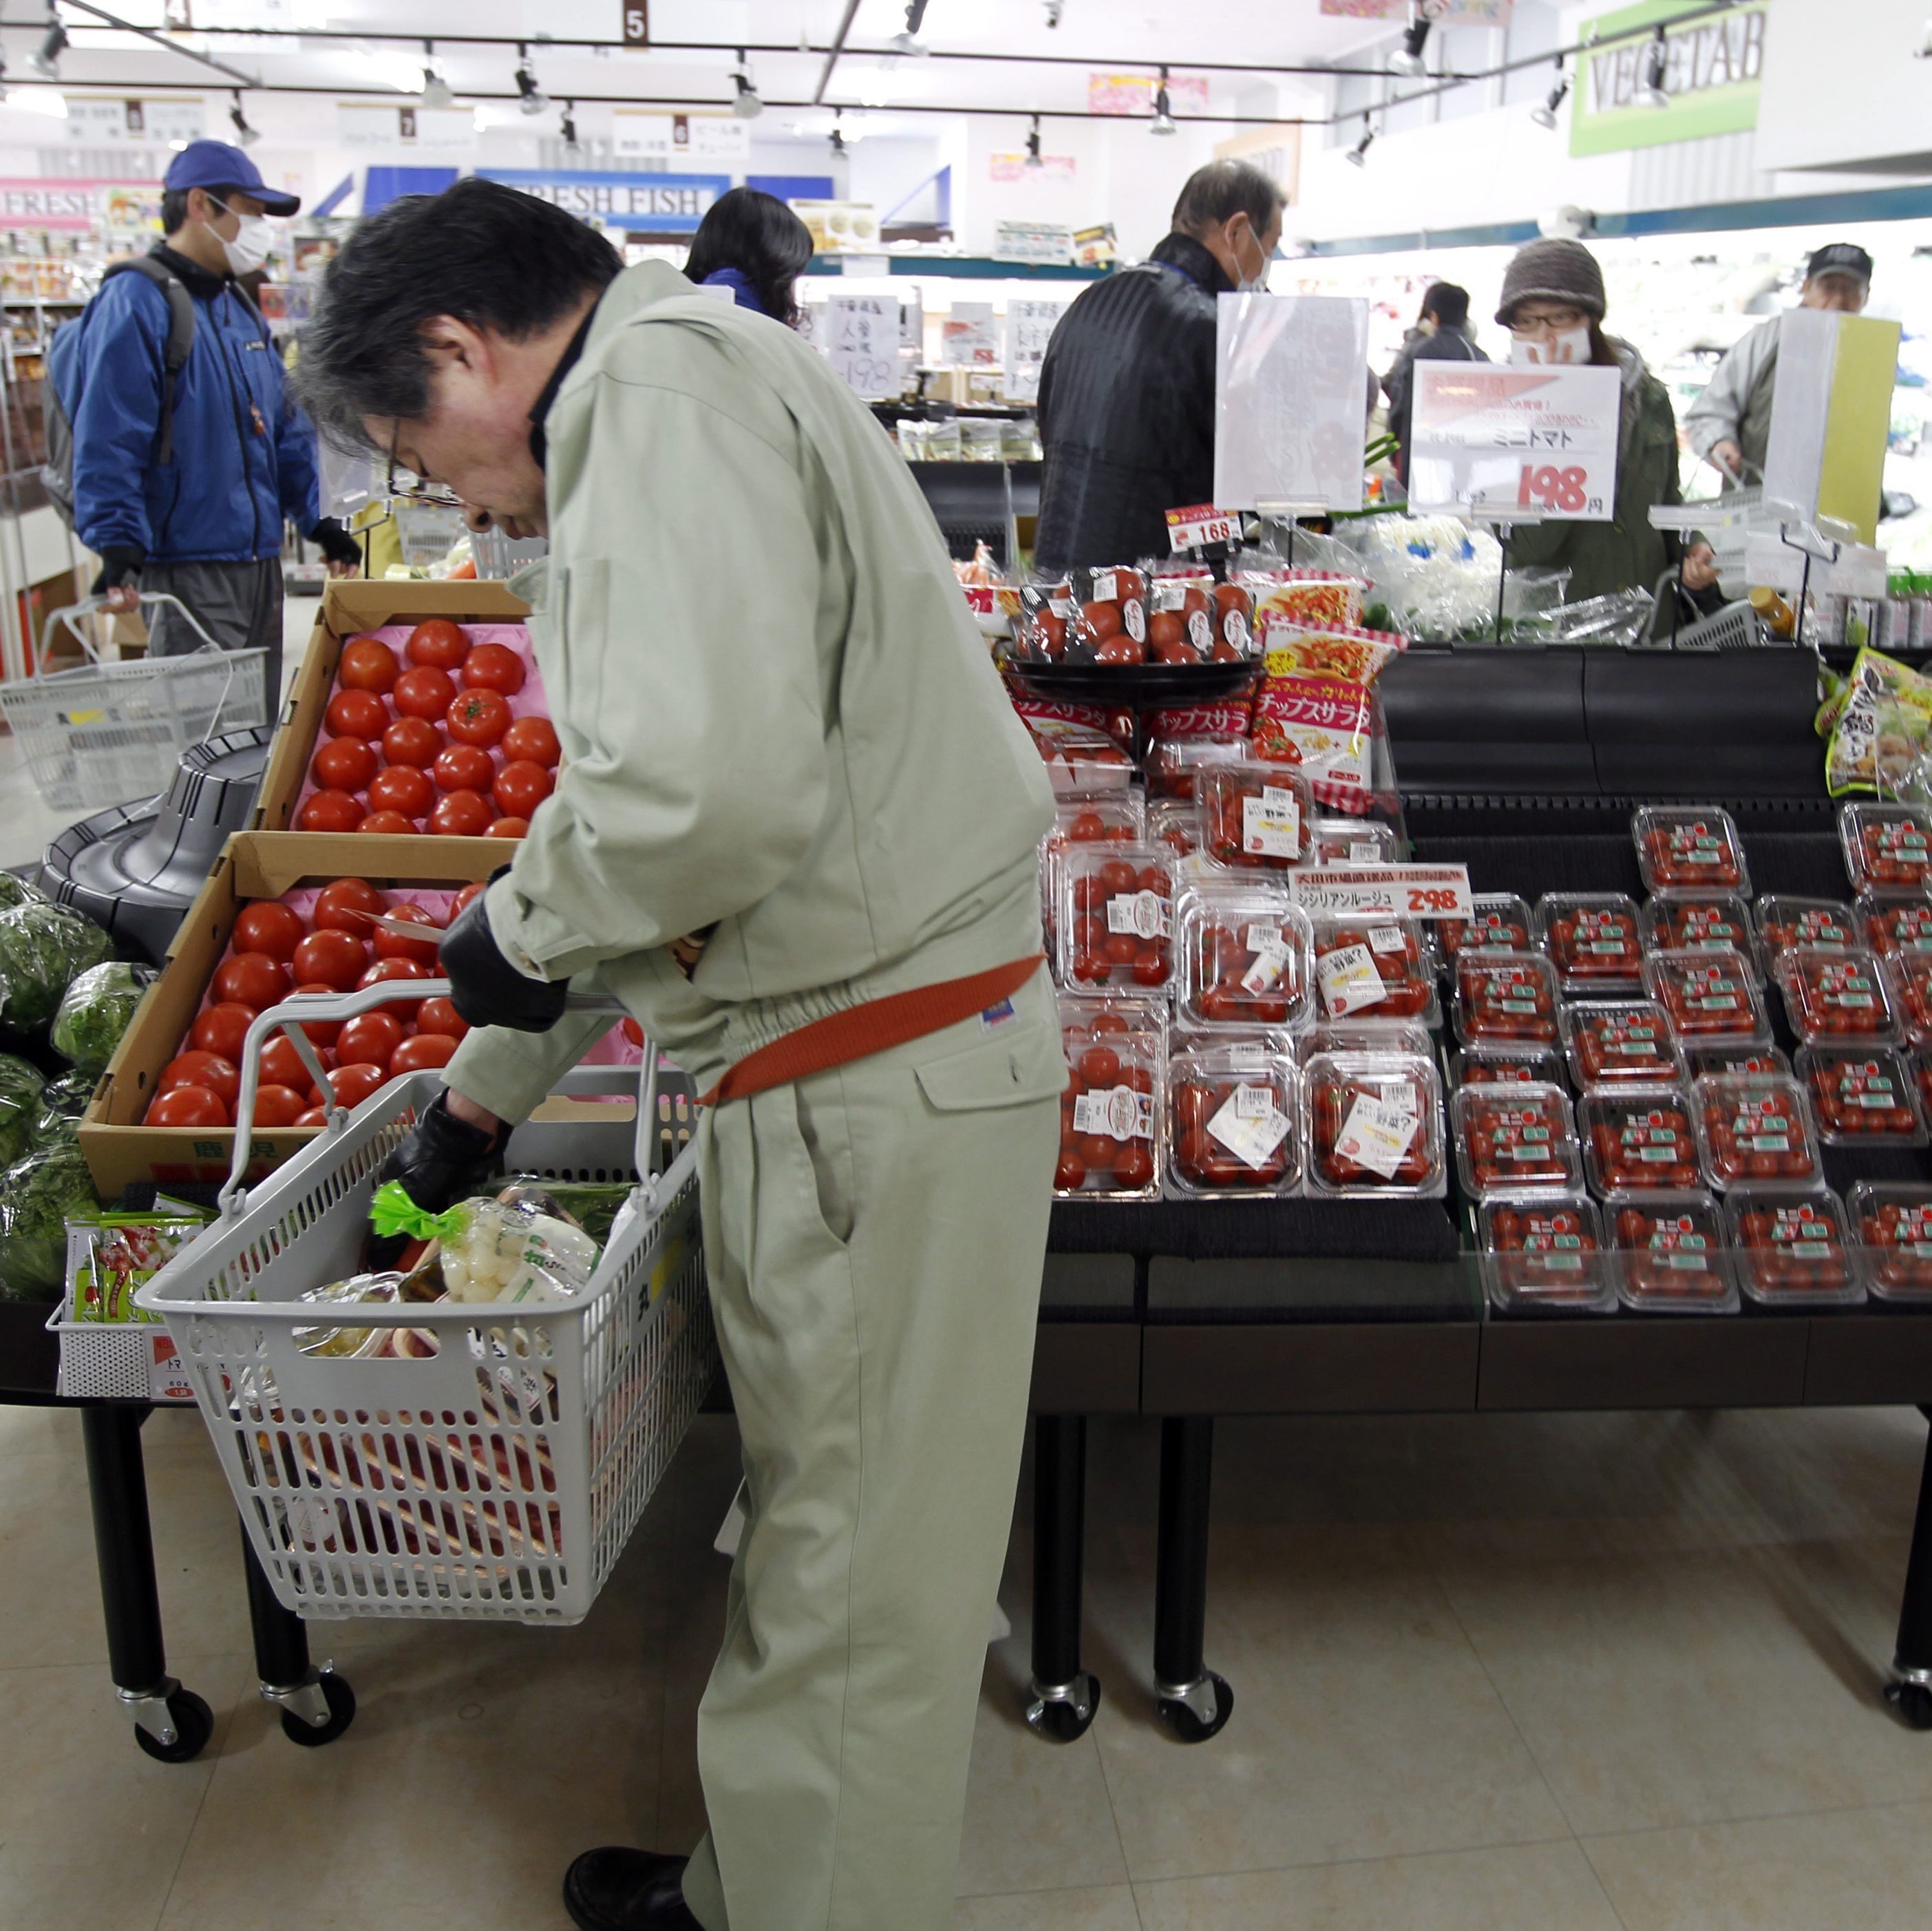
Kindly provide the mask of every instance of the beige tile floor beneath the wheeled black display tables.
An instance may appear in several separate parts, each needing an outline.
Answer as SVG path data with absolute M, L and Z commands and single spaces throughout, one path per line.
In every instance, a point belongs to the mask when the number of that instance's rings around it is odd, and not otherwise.
M 1911 1411 L 1227 1423 L 1209 1660 L 1155 1728 L 1148 1423 L 1092 1440 L 1078 1744 L 1018 1718 L 1022 1481 L 956 1931 L 1922 1931 L 1932 1738 L 1878 1703 L 1924 1452 Z M 705 1417 L 568 1631 L 319 1629 L 359 1715 L 303 1751 L 251 1687 L 199 1421 L 147 1428 L 170 1668 L 207 1755 L 106 1687 L 71 1415 L 0 1409 L 0 1923 L 564 1931 L 593 1842 L 701 1829 L 732 1425 Z M 106 1829 L 104 1829 L 106 1823 Z

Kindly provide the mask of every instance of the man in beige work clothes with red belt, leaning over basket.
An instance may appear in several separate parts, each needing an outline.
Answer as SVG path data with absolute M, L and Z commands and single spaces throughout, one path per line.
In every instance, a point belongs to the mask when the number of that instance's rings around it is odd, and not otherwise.
M 336 437 L 512 532 L 564 769 L 444 939 L 481 1030 L 394 1160 L 440 1206 L 614 994 L 699 1146 L 750 1521 L 690 1861 L 593 1931 L 943 1931 L 1032 1365 L 1057 1098 L 1039 758 L 923 499 L 779 323 L 466 180 L 365 222 L 303 344 Z

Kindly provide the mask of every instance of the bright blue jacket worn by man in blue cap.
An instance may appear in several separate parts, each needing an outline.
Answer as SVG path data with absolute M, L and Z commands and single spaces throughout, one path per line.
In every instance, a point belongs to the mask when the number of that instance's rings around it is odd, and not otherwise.
M 303 535 L 321 516 L 315 429 L 234 284 L 172 249 L 156 253 L 195 298 L 195 344 L 174 387 L 174 460 L 155 460 L 168 298 L 147 276 L 116 274 L 81 315 L 75 392 L 62 396 L 75 533 L 110 561 L 278 557 L 284 516 Z

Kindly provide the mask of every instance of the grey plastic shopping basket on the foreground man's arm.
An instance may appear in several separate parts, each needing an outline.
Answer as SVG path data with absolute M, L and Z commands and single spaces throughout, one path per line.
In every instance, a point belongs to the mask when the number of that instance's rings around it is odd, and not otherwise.
M 448 988 L 410 982 L 410 997 L 439 992 Z M 672 1150 L 676 1096 L 659 1094 L 647 1048 L 636 1123 L 616 1106 L 599 1110 L 611 1121 L 533 1119 L 504 1150 L 506 1171 L 636 1183 L 582 1297 L 327 1312 L 303 1303 L 305 1289 L 359 1270 L 377 1167 L 442 1077 L 410 1073 L 354 1113 L 334 1110 L 313 1146 L 243 1193 L 261 1048 L 290 1021 L 346 1019 L 388 997 L 392 986 L 315 994 L 255 1021 L 220 1220 L 137 1301 L 174 1336 L 286 1608 L 580 1622 L 717 1365 L 696 1148 Z M 307 1057 L 307 1040 L 290 1038 Z M 578 1067 L 560 1092 L 611 1092 L 632 1077 Z M 408 1330 L 408 1353 L 305 1353 L 296 1330 L 330 1320 Z

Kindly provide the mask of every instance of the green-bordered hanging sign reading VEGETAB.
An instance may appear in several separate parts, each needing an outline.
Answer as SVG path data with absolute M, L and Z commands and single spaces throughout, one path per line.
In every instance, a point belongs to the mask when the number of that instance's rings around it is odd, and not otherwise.
M 1770 0 L 1745 0 L 1725 14 L 1683 19 L 1679 0 L 1644 0 L 1584 21 L 1577 85 L 1571 89 L 1571 155 L 1613 155 L 1667 147 L 1758 126 L 1758 81 Z M 1648 106 L 1650 46 L 1663 23 L 1663 93 Z

